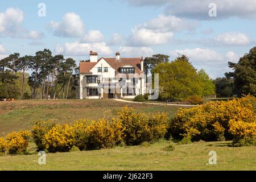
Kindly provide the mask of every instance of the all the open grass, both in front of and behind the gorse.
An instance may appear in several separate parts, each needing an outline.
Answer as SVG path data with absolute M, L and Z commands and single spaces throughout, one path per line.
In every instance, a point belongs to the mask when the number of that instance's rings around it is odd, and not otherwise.
M 123 106 L 137 111 L 165 111 L 171 117 L 180 106 L 147 105 L 114 100 L 49 100 L 0 102 L 0 135 L 30 130 L 34 119 L 110 118 Z M 170 144 L 174 151 L 164 151 Z M 30 155 L 0 155 L 1 170 L 256 170 L 256 147 L 229 147 L 226 142 L 195 142 L 179 145 L 162 140 L 142 146 L 115 147 L 94 151 L 47 154 L 47 164 L 39 165 L 34 143 Z M 217 152 L 217 165 L 209 165 L 209 151 Z

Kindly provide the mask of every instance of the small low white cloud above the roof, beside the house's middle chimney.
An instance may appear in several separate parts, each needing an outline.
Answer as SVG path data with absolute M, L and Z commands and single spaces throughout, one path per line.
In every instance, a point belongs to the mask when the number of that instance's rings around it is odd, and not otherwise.
M 119 52 L 121 56 L 129 57 L 146 57 L 154 54 L 154 51 L 148 47 L 120 47 Z

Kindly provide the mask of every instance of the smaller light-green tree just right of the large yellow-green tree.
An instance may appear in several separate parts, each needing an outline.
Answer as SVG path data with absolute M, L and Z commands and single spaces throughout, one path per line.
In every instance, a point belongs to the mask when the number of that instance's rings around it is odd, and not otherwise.
M 215 84 L 213 80 L 210 79 L 209 75 L 204 71 L 204 69 L 200 69 L 197 74 L 203 84 L 203 96 L 210 96 L 215 94 Z

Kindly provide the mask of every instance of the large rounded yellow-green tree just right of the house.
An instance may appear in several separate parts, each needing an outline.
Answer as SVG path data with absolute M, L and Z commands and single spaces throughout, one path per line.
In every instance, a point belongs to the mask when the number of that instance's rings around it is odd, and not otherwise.
M 184 57 L 177 57 L 171 63 L 160 63 L 152 73 L 159 73 L 159 96 L 162 99 L 184 100 L 189 96 L 201 96 L 203 93 L 196 69 Z

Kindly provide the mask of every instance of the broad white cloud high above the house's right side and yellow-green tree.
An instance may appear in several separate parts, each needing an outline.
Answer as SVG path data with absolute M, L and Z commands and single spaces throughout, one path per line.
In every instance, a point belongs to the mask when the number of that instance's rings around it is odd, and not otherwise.
M 158 15 L 157 18 L 151 19 L 147 23 L 142 23 L 138 28 L 157 30 L 160 32 L 192 30 L 199 26 L 199 22 L 177 18 L 176 16 Z

